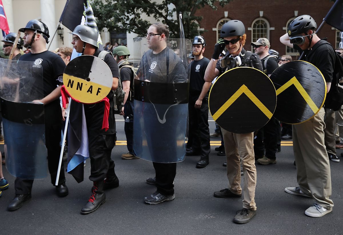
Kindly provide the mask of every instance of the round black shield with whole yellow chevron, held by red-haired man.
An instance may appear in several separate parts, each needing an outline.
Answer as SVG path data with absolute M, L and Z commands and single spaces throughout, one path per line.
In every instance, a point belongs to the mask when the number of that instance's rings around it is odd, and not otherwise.
M 238 67 L 223 73 L 213 84 L 210 113 L 216 123 L 233 133 L 250 133 L 273 116 L 275 88 L 260 70 Z

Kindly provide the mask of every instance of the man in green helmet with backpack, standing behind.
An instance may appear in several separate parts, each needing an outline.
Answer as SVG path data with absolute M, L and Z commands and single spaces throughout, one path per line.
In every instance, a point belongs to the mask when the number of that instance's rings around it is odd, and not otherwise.
M 121 155 L 122 159 L 137 159 L 133 152 L 133 66 L 129 63 L 130 51 L 126 46 L 117 46 L 113 49 L 113 57 L 116 59 L 120 72 L 120 80 L 125 92 L 123 107 L 120 115 L 124 116 L 124 131 L 128 153 Z

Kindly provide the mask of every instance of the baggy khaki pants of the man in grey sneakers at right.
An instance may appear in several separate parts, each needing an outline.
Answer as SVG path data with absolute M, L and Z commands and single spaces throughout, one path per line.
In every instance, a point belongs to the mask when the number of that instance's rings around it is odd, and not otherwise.
M 324 145 L 324 113 L 321 108 L 310 120 L 293 125 L 293 151 L 301 191 L 331 210 L 331 174 Z

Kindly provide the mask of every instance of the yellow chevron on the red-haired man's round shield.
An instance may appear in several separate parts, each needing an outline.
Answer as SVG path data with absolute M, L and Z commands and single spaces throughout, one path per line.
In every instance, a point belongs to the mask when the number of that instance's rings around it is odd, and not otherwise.
M 226 102 L 225 104 L 220 107 L 216 113 L 212 116 L 214 120 L 217 120 L 224 112 L 225 110 L 232 105 L 236 99 L 238 99 L 239 96 L 242 94 L 245 94 L 248 96 L 248 98 L 262 111 L 262 113 L 267 116 L 269 119 L 273 116 L 273 114 L 268 110 L 267 107 L 265 107 L 262 102 L 249 90 L 249 88 L 246 85 L 242 85 L 239 87 L 239 89 L 233 94 Z

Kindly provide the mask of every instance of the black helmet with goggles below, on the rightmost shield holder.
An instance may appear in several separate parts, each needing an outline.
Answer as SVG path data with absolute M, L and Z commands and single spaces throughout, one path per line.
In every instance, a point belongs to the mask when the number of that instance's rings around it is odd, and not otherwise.
M 288 36 L 293 37 L 317 28 L 315 20 L 309 15 L 300 15 L 288 25 Z

